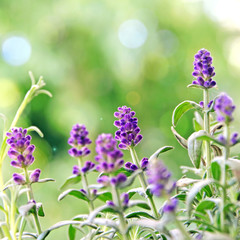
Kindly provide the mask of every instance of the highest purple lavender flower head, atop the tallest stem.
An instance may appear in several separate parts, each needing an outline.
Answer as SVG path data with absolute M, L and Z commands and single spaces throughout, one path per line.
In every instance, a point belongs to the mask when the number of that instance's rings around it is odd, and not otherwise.
M 194 71 L 192 75 L 196 78 L 192 84 L 200 85 L 205 88 L 212 88 L 216 82 L 212 80 L 215 76 L 214 67 L 212 66 L 212 57 L 206 49 L 201 49 L 195 55 L 193 62 Z

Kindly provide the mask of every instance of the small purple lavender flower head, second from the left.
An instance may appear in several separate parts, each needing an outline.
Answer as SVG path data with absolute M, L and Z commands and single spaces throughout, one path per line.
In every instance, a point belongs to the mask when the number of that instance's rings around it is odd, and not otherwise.
M 68 153 L 72 157 L 84 157 L 90 154 L 90 150 L 86 147 L 91 143 L 91 140 L 87 137 L 88 131 L 84 125 L 76 124 L 72 127 L 70 132 L 70 138 L 68 144 L 71 148 Z

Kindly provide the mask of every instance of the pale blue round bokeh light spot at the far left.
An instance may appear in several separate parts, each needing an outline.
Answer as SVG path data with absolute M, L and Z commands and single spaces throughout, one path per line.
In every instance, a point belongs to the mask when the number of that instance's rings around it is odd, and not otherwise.
M 26 63 L 31 56 L 31 45 L 23 37 L 12 36 L 2 44 L 2 56 L 5 62 L 13 66 Z

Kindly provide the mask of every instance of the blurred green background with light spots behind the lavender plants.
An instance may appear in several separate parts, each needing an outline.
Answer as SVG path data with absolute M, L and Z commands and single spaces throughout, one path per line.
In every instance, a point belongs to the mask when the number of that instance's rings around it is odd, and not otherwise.
M 137 147 L 141 158 L 172 145 L 175 150 L 162 158 L 174 177 L 181 176 L 180 165 L 191 166 L 171 133 L 171 114 L 183 100 L 201 101 L 201 91 L 186 88 L 200 48 L 214 58 L 218 89 L 212 96 L 225 91 L 239 105 L 239 9 L 238 0 L 0 1 L 0 112 L 7 126 L 30 87 L 29 70 L 36 78 L 43 75 L 53 93 L 52 99 L 35 98 L 18 124 L 42 130 L 43 139 L 33 136 L 37 160 L 32 168 L 56 179 L 35 186 L 36 200 L 46 211 L 43 228 L 87 211 L 71 197 L 57 202 L 75 164 L 67 154 L 75 123 L 85 124 L 94 142 L 98 134 L 116 131 L 117 107 L 130 106 L 144 136 Z M 189 112 L 177 127 L 185 137 L 192 131 L 192 116 Z M 238 127 L 239 111 L 235 119 Z M 14 171 L 7 159 L 4 178 Z M 67 239 L 63 232 L 49 239 Z

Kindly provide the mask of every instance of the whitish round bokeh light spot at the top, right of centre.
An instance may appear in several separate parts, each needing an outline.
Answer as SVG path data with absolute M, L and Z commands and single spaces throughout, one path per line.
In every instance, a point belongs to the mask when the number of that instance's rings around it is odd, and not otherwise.
M 118 30 L 118 37 L 123 46 L 127 48 L 141 47 L 148 36 L 145 25 L 136 19 L 123 22 Z

